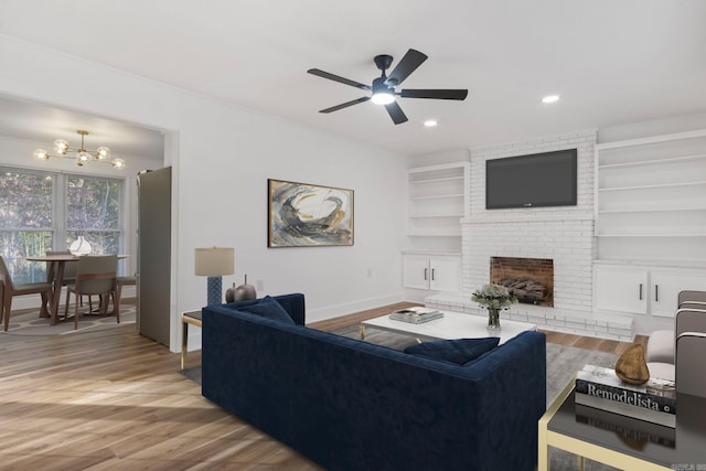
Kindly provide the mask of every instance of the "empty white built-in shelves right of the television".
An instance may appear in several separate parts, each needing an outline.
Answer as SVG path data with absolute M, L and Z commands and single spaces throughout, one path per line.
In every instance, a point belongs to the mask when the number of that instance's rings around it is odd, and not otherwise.
M 706 263 L 706 130 L 596 146 L 599 260 Z

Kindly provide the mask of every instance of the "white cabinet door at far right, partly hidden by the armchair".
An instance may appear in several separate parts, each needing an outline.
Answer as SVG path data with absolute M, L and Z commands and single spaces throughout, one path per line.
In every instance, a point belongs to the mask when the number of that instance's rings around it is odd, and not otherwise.
M 673 318 L 677 298 L 684 290 L 706 290 L 704 272 L 652 271 L 650 275 L 650 308 L 653 315 Z

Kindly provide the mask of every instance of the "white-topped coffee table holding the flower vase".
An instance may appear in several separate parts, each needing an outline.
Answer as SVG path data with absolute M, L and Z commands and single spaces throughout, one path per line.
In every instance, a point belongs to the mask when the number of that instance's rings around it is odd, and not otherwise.
M 389 319 L 389 315 L 368 319 L 361 322 L 361 340 L 365 340 L 365 329 L 374 328 L 388 332 L 411 335 L 421 341 L 478 339 L 482 336 L 500 336 L 500 343 L 516 336 L 525 331 L 537 330 L 537 325 L 526 322 L 507 321 L 501 318 L 501 331 L 489 333 L 488 319 L 482 315 L 464 314 L 462 312 L 442 311 L 443 318 L 435 319 L 421 324 L 413 324 Z

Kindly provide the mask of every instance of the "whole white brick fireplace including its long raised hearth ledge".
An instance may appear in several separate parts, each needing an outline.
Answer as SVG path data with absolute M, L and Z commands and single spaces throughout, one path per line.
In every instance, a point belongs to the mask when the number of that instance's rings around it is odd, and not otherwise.
M 436 293 L 429 307 L 483 315 L 471 293 L 491 281 L 495 258 L 552 260 L 550 303 L 513 304 L 506 319 L 552 330 L 632 341 L 632 318 L 601 317 L 592 311 L 593 144 L 595 131 L 547 137 L 527 142 L 471 149 L 470 214 L 461 220 L 462 277 L 459 293 Z M 485 208 L 485 161 L 576 148 L 576 206 Z

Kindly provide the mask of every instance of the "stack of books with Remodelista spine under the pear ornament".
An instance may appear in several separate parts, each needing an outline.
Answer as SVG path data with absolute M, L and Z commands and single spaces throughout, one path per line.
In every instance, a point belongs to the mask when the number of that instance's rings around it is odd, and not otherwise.
M 585 365 L 576 375 L 575 393 L 576 404 L 676 426 L 676 388 L 671 381 L 650 378 L 633 385 L 620 379 L 612 368 Z

